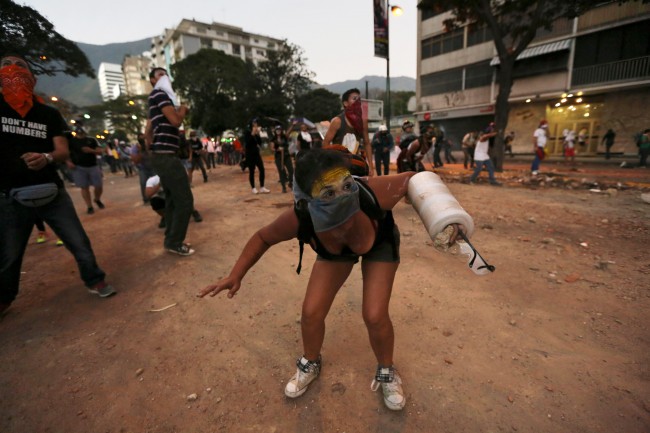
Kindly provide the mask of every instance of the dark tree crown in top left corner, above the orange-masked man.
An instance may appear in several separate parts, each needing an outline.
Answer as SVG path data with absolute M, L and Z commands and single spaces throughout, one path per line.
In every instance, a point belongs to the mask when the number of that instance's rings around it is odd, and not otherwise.
M 95 71 L 77 44 L 57 33 L 35 9 L 12 0 L 0 0 L 0 47 L 0 55 L 25 56 L 35 75 L 63 72 L 95 78 Z

